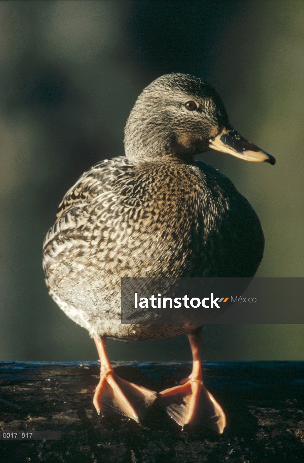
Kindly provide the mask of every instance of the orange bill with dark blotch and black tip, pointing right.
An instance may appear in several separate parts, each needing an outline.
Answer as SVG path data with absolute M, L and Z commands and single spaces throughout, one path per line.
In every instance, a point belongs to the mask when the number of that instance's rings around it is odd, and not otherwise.
M 251 162 L 269 162 L 274 165 L 275 158 L 243 138 L 230 124 L 223 127 L 216 136 L 209 139 L 209 148 Z

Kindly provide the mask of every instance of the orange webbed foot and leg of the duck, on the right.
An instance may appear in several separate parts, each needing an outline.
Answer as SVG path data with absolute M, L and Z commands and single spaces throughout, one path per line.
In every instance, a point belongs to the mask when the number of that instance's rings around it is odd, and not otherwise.
M 202 328 L 188 334 L 193 355 L 191 375 L 180 381 L 179 385 L 163 390 L 159 397 L 167 413 L 180 426 L 203 424 L 221 434 L 226 425 L 225 414 L 203 383 Z

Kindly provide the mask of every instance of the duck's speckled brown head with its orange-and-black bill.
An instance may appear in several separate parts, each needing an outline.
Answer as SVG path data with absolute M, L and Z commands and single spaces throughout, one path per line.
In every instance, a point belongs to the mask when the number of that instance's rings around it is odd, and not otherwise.
M 124 141 L 133 164 L 160 158 L 194 162 L 195 155 L 210 149 L 246 161 L 276 162 L 230 125 L 214 88 L 188 74 L 161 76 L 142 91 L 127 120 Z

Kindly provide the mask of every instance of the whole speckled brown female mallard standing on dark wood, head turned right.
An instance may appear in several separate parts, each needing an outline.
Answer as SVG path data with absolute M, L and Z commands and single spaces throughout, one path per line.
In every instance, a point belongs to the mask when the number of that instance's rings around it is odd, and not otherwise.
M 125 128 L 126 157 L 85 172 L 59 205 L 44 242 L 50 295 L 94 338 L 100 382 L 94 405 L 102 416 L 142 419 L 157 394 L 119 378 L 105 338 L 157 339 L 187 334 L 193 371 L 162 391 L 177 423 L 225 427 L 220 405 L 203 384 L 197 325 L 122 325 L 122 277 L 251 277 L 264 237 L 249 202 L 223 174 L 195 155 L 210 149 L 275 164 L 230 124 L 216 91 L 185 74 L 162 76 L 138 97 Z M 203 407 L 201 406 L 203 404 Z

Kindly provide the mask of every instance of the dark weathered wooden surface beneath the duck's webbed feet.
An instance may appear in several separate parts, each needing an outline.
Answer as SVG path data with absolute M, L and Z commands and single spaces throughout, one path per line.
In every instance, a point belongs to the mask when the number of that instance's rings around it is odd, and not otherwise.
M 113 362 L 122 378 L 160 391 L 189 363 Z M 0 363 L 0 430 L 61 431 L 61 440 L 0 441 L 1 463 L 280 463 L 304 460 L 304 362 L 204 364 L 227 415 L 222 435 L 181 431 L 156 402 L 142 425 L 101 418 L 92 404 L 97 363 Z

